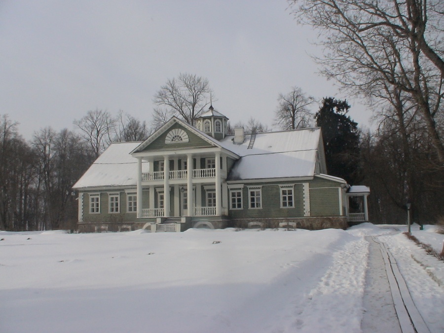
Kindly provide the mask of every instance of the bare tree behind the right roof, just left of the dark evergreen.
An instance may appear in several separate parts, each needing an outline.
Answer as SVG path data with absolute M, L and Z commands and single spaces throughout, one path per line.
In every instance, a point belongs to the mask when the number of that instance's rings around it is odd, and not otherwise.
M 288 130 L 306 128 L 313 122 L 313 115 L 307 107 L 314 102 L 314 99 L 307 97 L 301 88 L 292 87 L 292 91 L 288 94 L 279 94 L 278 102 L 274 125 Z

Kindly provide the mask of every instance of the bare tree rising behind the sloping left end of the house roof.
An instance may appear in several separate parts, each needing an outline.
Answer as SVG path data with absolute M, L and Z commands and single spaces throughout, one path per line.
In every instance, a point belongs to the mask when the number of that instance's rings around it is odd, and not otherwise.
M 111 113 L 103 110 L 88 111 L 74 125 L 80 130 L 80 137 L 89 145 L 95 158 L 99 157 L 112 142 L 116 120 Z

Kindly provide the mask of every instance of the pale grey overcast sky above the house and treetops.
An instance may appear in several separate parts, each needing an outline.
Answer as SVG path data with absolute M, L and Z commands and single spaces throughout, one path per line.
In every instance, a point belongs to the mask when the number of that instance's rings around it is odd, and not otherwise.
M 151 119 L 152 97 L 180 73 L 208 78 L 232 123 L 273 123 L 292 86 L 347 98 L 317 74 L 316 34 L 286 0 L 0 0 L 0 114 L 31 139 L 45 126 L 74 129 L 96 108 Z M 371 112 L 347 98 L 351 117 Z M 313 111 L 318 109 L 316 105 Z

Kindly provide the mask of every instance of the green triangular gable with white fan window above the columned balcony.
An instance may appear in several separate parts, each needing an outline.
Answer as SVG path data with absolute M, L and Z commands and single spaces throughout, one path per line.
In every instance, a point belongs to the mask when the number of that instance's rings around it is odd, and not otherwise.
M 171 142 L 172 134 L 184 133 L 187 136 L 186 141 Z M 168 143 L 165 143 L 167 141 Z M 174 122 L 168 127 L 162 134 L 154 139 L 147 147 L 140 151 L 157 151 L 157 150 L 176 150 L 176 149 L 188 149 L 188 148 L 206 148 L 215 147 L 215 145 L 198 137 L 192 131 L 185 126 L 182 126 L 178 122 Z

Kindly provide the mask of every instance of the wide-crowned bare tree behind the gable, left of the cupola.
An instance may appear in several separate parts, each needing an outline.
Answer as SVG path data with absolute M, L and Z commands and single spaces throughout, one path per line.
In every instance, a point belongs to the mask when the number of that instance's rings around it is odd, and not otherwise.
M 158 106 L 154 109 L 154 122 L 159 125 L 167 117 L 176 115 L 193 125 L 208 105 L 210 92 L 208 79 L 202 76 L 185 73 L 168 79 L 153 98 L 154 104 Z

